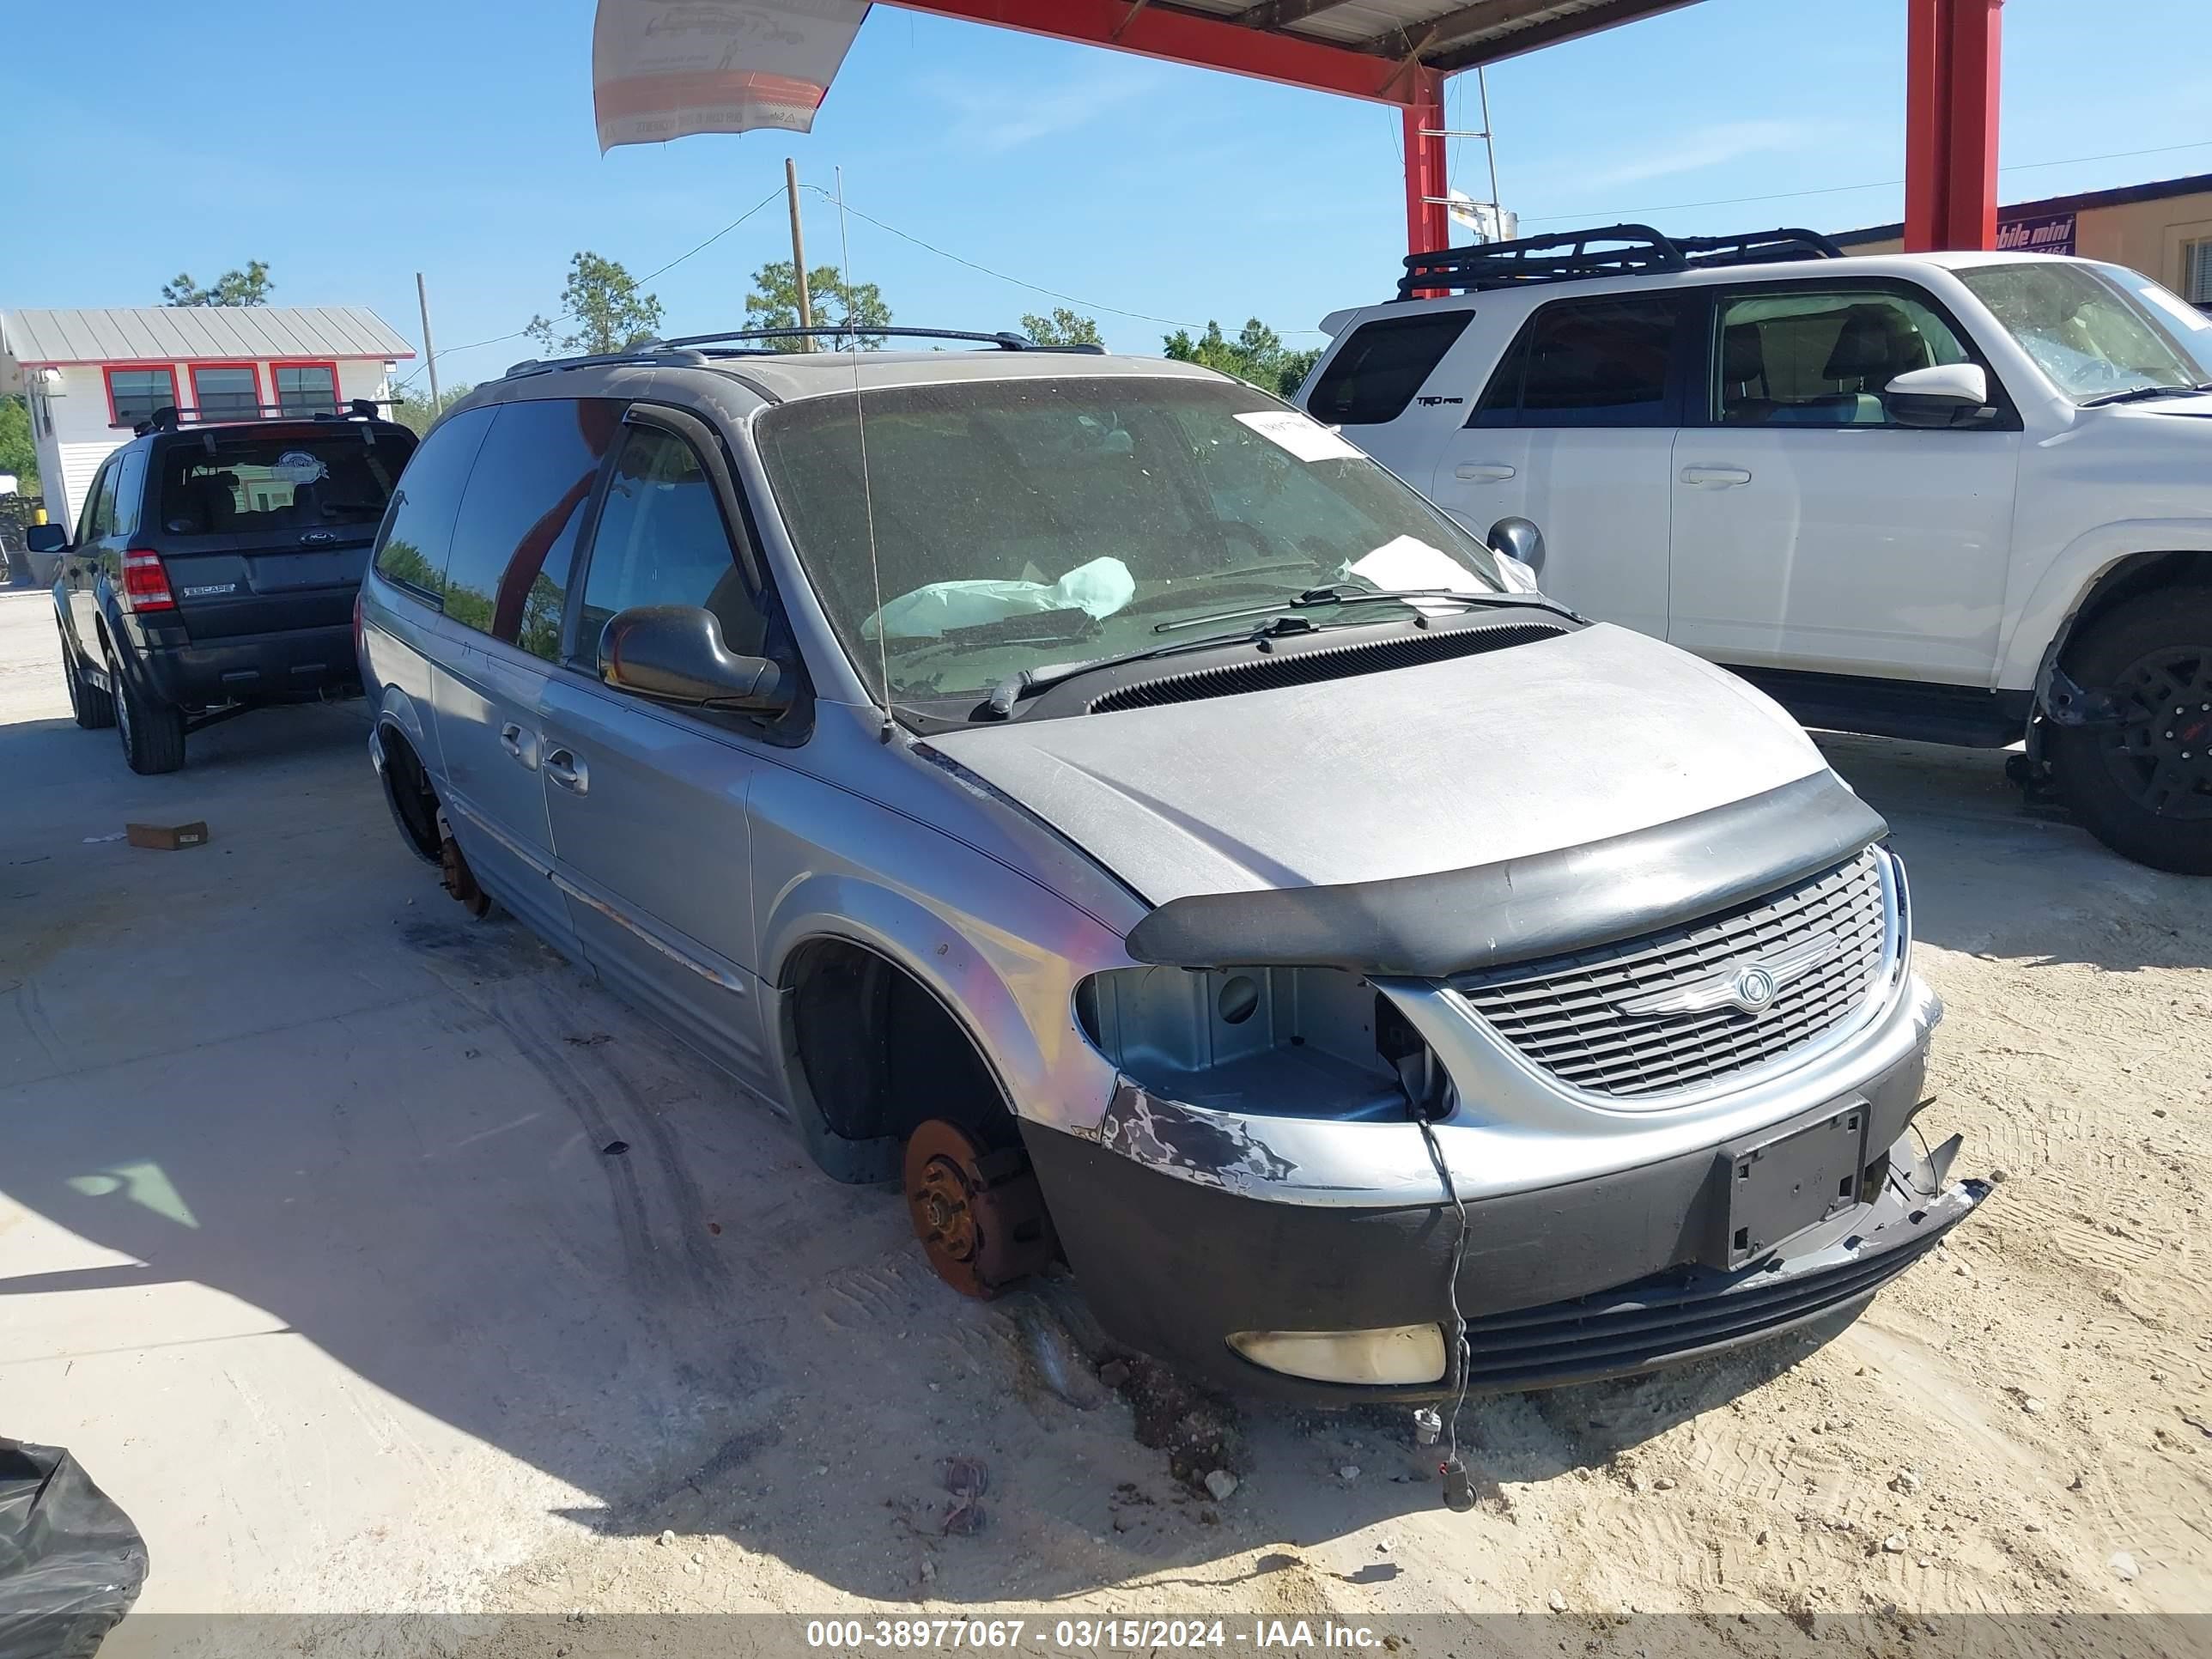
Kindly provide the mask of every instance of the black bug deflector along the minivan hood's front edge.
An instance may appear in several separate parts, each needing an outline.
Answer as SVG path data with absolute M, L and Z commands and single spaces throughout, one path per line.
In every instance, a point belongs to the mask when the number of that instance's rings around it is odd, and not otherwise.
M 1829 770 L 1688 818 L 1431 876 L 1192 894 L 1146 916 L 1157 967 L 1340 967 L 1436 980 L 1610 945 L 1787 887 L 1889 834 Z

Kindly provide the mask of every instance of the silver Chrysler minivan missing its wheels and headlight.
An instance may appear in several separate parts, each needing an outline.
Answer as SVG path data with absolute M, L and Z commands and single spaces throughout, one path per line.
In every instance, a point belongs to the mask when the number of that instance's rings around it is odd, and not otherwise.
M 1356 1402 L 1847 1318 L 1984 1197 L 1885 825 L 1772 701 L 1225 376 L 524 363 L 361 593 L 407 841 L 989 1296 Z M 942 345 L 942 341 L 940 341 Z

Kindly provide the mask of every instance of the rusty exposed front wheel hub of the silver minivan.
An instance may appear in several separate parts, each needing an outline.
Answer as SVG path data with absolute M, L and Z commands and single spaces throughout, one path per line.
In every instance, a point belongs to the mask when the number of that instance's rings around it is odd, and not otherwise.
M 1057 1250 L 1044 1190 L 1022 1152 L 987 1152 L 931 1117 L 907 1137 L 907 1212 L 929 1265 L 962 1296 L 998 1296 Z

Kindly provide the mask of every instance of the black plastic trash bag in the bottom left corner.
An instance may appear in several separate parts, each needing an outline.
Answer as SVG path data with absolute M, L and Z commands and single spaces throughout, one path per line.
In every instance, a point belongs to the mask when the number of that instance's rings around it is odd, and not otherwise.
M 146 1540 L 60 1447 L 0 1440 L 0 1659 L 91 1659 L 146 1584 Z

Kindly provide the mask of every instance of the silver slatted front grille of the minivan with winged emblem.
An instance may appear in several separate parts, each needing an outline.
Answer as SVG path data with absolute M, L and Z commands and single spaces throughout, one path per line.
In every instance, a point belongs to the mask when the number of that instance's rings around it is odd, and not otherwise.
M 1688 927 L 1546 962 L 1453 980 L 1528 1060 L 1575 1088 L 1639 1097 L 1694 1088 L 1763 1064 L 1843 1024 L 1882 969 L 1889 916 L 1871 847 L 1781 894 Z M 1807 940 L 1836 949 L 1772 989 L 1756 1013 L 1734 1004 L 1632 1013 L 1668 993 L 1697 1002 L 1730 971 L 1796 960 Z

